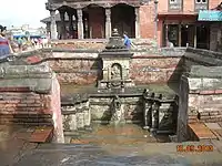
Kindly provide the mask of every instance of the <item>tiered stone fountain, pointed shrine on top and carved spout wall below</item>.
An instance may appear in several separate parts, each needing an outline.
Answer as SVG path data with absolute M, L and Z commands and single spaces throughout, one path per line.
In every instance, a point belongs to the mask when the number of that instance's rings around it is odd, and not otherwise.
M 85 128 L 91 122 L 138 123 L 154 132 L 174 131 L 178 110 L 174 95 L 144 92 L 144 87 L 134 85 L 129 76 L 132 55 L 113 30 L 105 50 L 99 54 L 103 77 L 98 87 L 74 94 L 67 104 L 63 102 L 64 132 Z

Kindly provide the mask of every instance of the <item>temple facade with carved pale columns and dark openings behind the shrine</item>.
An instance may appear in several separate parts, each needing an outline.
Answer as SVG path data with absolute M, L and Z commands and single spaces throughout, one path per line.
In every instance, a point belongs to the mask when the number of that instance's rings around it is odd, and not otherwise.
M 153 38 L 154 3 L 141 0 L 49 0 L 47 10 L 51 14 L 51 38 L 57 38 L 56 11 L 61 22 L 69 15 L 70 25 L 63 23 L 61 39 L 105 39 L 112 29 L 127 32 L 130 38 Z M 73 19 L 74 18 L 74 19 Z M 73 20 L 77 20 L 75 23 Z M 145 30 L 143 28 L 150 30 Z M 68 37 L 69 35 L 69 37 Z

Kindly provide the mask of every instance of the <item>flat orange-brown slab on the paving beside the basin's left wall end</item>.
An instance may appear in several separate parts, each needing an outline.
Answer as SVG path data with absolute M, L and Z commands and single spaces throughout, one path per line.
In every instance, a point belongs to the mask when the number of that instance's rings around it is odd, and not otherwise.
M 53 127 L 37 128 L 32 133 L 29 142 L 30 143 L 47 143 L 50 142 L 53 135 Z

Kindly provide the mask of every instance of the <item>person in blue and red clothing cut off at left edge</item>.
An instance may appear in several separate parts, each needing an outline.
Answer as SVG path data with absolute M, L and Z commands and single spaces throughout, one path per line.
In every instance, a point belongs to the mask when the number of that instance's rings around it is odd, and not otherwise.
M 9 40 L 6 38 L 6 27 L 0 25 L 0 58 L 13 53 Z

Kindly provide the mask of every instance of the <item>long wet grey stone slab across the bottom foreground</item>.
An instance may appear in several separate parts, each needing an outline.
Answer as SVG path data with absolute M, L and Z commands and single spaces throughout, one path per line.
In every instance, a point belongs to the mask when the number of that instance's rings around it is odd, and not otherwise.
M 95 146 L 44 144 L 29 152 L 13 166 L 221 166 L 222 154 L 178 153 L 178 144 L 143 146 Z M 198 145 L 198 144 L 196 144 Z

